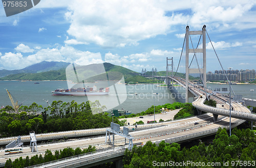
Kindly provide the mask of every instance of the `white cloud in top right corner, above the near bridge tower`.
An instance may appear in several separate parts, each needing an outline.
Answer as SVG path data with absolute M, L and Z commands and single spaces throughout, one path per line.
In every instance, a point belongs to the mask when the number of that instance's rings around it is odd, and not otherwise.
M 188 20 L 189 25 L 200 28 L 203 24 L 210 25 L 218 30 L 245 29 L 246 25 L 255 25 L 251 8 L 255 5 L 252 1 L 192 1 L 192 15 Z M 246 18 L 245 16 L 248 16 Z M 246 20 L 244 19 L 246 18 Z M 255 27 L 255 26 L 253 26 Z

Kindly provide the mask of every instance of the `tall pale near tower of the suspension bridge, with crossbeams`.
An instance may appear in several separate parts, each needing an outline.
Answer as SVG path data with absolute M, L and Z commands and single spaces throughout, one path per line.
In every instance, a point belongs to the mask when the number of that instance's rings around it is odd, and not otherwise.
M 189 53 L 203 53 L 203 68 L 200 72 L 203 74 L 203 83 L 206 87 L 206 26 L 204 25 L 202 31 L 189 31 L 189 26 L 186 27 L 186 103 L 188 103 L 188 76 L 190 73 L 199 73 L 199 69 L 189 69 Z M 190 35 L 202 35 L 203 36 L 203 49 L 189 49 Z

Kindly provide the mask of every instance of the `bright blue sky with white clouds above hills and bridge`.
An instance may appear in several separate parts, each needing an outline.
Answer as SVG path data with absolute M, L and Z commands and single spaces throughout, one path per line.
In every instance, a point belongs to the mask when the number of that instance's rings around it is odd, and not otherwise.
M 246 0 L 44 0 L 10 17 L 1 4 L 0 69 L 65 61 L 165 70 L 166 57 L 174 57 L 178 65 L 187 24 L 190 30 L 206 25 L 224 68 L 256 69 L 255 4 Z M 194 46 L 197 40 L 193 37 Z M 206 41 L 207 71 L 221 69 Z

